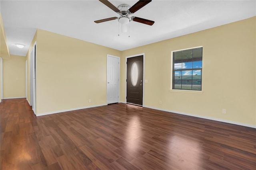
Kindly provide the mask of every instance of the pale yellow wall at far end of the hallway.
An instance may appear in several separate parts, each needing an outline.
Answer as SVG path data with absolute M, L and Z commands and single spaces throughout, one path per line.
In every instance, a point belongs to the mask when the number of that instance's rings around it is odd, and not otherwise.
M 25 97 L 26 57 L 10 55 L 3 59 L 3 98 Z

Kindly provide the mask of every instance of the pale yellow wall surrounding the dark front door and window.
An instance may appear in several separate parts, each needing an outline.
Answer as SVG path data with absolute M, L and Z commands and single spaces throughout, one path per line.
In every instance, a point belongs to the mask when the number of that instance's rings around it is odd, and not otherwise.
M 120 100 L 125 101 L 125 57 L 145 53 L 145 106 L 256 127 L 255 40 L 256 17 L 122 51 Z M 198 46 L 203 94 L 170 92 L 171 51 Z

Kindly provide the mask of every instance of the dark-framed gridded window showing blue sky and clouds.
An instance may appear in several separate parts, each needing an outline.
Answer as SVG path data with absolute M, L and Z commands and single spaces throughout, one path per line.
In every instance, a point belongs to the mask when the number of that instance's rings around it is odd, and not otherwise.
M 202 47 L 172 53 L 172 89 L 202 90 Z

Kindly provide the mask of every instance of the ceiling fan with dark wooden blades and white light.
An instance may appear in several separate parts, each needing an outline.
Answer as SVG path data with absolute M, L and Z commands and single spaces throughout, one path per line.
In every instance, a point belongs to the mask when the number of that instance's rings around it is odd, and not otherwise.
M 153 25 L 155 21 L 147 20 L 144 18 L 139 17 L 130 17 L 131 14 L 134 14 L 136 11 L 138 11 L 140 8 L 144 7 L 148 3 L 150 3 L 152 0 L 139 0 L 136 4 L 134 4 L 132 7 L 130 7 L 127 4 L 121 4 L 117 8 L 111 4 L 108 0 L 99 0 L 108 8 L 119 14 L 119 17 L 112 17 L 112 18 L 105 18 L 102 20 L 94 21 L 95 23 L 101 23 L 105 21 L 111 21 L 111 20 L 118 20 L 119 23 L 122 25 L 122 32 L 127 32 L 127 25 L 130 23 L 130 21 L 136 21 L 140 23 L 144 23 L 147 25 Z

